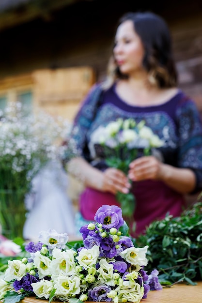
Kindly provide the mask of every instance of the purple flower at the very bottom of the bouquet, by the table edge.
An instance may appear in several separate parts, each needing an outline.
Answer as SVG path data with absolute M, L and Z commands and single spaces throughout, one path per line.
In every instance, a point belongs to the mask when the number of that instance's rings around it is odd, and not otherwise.
M 88 298 L 89 301 L 94 302 L 111 302 L 111 298 L 108 298 L 107 294 L 111 291 L 111 288 L 107 285 L 99 285 L 94 287 L 93 289 L 88 290 Z

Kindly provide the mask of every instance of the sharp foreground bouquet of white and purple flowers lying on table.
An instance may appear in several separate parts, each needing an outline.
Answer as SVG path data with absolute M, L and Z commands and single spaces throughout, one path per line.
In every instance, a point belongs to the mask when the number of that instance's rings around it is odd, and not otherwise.
M 14 303 L 36 295 L 49 302 L 139 303 L 150 285 L 161 289 L 158 272 L 148 276 L 143 270 L 148 246 L 134 247 L 124 236 L 121 209 L 103 205 L 94 219 L 95 224 L 81 227 L 84 246 L 78 250 L 68 244 L 67 234 L 42 231 L 39 242 L 25 247 L 30 258 L 8 261 L 4 280 L 0 280 L 0 299 Z

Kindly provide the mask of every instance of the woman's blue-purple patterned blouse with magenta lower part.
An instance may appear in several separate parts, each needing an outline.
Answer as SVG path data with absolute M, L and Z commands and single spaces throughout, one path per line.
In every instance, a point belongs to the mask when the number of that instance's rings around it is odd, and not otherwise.
M 91 152 L 91 136 L 98 126 L 106 126 L 117 118 L 133 118 L 137 123 L 146 121 L 145 125 L 165 142 L 157 149 L 159 158 L 174 167 L 192 169 L 197 180 L 194 192 L 202 189 L 202 121 L 195 103 L 182 91 L 160 105 L 132 106 L 118 96 L 115 84 L 106 91 L 99 85 L 94 86 L 75 118 L 74 130 L 77 132 L 74 131 L 73 137 L 81 155 L 98 169 L 105 169 L 107 165 L 101 155 Z M 164 182 L 133 182 L 132 192 L 136 197 L 136 232 L 133 236 L 144 232 L 146 226 L 155 219 L 164 218 L 167 213 L 178 216 L 182 212 L 184 196 Z M 92 188 L 84 190 L 79 203 L 86 220 L 93 220 L 103 204 L 119 205 L 114 195 Z

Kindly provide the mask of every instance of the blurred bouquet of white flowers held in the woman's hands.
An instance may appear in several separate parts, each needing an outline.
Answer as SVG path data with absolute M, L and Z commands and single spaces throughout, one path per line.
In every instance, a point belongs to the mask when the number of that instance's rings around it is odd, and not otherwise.
M 145 121 L 138 124 L 132 118 L 117 119 L 106 127 L 98 127 L 91 136 L 90 150 L 101 155 L 109 167 L 128 173 L 129 164 L 137 157 L 149 155 L 152 150 L 163 145 L 163 141 L 145 126 Z M 125 219 L 130 219 L 135 210 L 135 197 L 132 193 L 118 192 L 116 199 L 121 205 Z

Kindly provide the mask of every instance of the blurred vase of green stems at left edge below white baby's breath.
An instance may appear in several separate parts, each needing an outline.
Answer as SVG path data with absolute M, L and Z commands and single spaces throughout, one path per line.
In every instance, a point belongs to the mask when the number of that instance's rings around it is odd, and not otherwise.
M 23 227 L 26 220 L 25 191 L 0 189 L 0 225 L 2 235 L 13 240 L 23 238 Z

